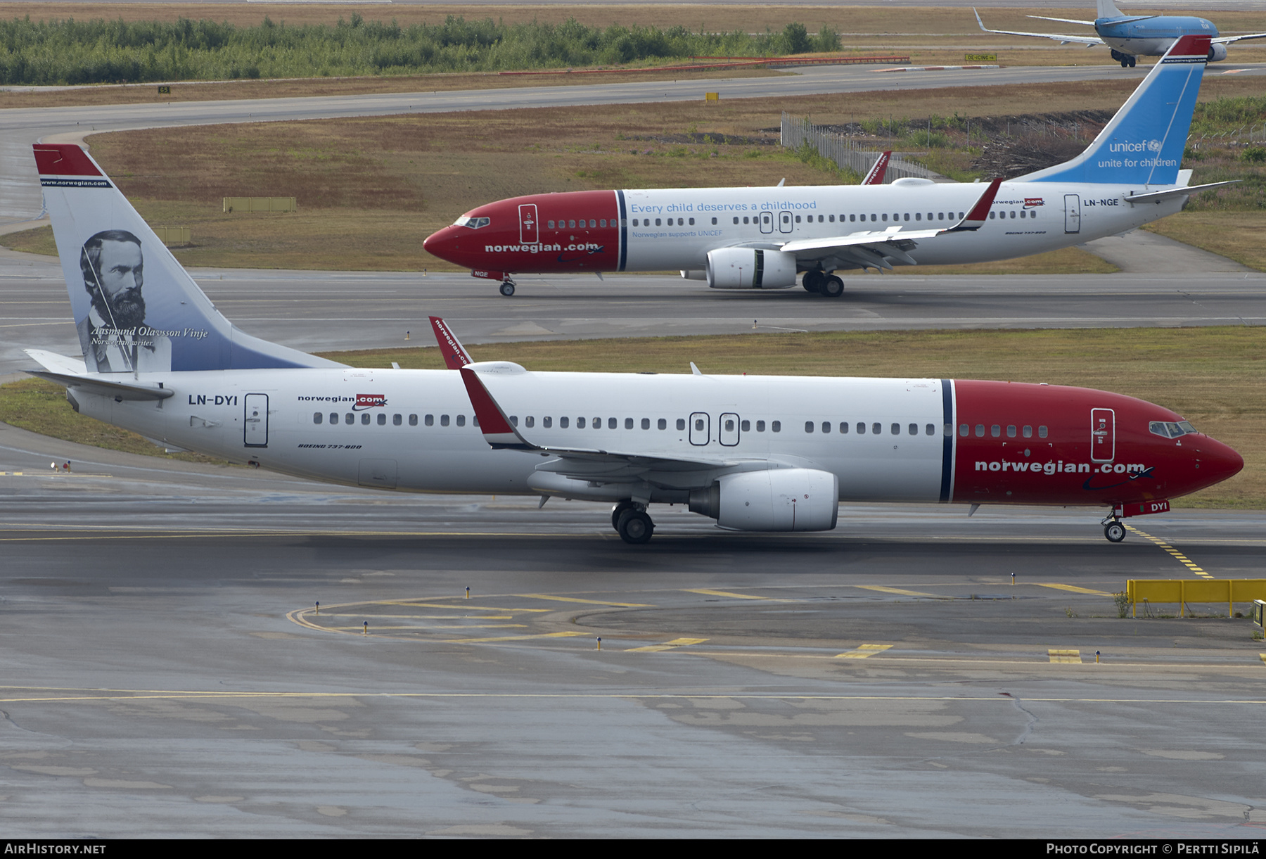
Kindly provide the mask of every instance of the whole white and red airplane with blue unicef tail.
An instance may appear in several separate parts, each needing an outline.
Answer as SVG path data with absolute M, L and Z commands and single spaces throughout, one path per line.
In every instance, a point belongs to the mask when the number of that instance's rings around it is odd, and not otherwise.
M 515 274 L 680 270 L 714 289 L 781 289 L 804 272 L 986 262 L 1123 233 L 1199 190 L 1179 170 L 1209 54 L 1184 35 L 1076 158 L 1005 182 L 690 188 L 537 194 L 471 209 L 423 243 L 501 281 Z

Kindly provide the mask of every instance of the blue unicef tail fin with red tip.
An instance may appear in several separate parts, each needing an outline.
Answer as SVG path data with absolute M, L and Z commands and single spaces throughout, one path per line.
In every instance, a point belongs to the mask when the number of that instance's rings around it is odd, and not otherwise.
M 1085 152 L 1013 181 L 1174 185 L 1208 58 L 1208 35 L 1181 37 Z

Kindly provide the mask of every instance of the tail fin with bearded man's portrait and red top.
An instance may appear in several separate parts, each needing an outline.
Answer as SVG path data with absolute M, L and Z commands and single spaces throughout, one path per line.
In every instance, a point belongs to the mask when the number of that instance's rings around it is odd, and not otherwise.
M 89 372 L 343 366 L 238 331 L 81 147 L 34 148 Z

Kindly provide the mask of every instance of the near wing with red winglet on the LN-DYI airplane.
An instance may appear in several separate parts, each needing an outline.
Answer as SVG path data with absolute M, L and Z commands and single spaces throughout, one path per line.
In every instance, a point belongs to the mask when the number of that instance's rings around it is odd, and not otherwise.
M 481 365 L 465 366 L 461 369 L 462 383 L 466 393 L 471 398 L 471 407 L 479 419 L 484 440 L 494 450 L 522 450 L 539 452 L 542 456 L 556 456 L 555 461 L 542 462 L 537 470 L 552 471 L 576 479 L 618 480 L 633 479 L 649 471 L 715 471 L 717 469 L 729 469 L 744 462 L 763 462 L 763 460 L 749 460 L 739 457 L 711 457 L 711 456 L 658 456 L 628 451 L 611 451 L 591 447 L 553 447 L 549 445 L 536 445 L 528 441 L 518 427 L 510 423 L 505 412 L 489 393 L 480 378 Z M 506 365 L 500 365 L 506 366 Z M 522 372 L 523 367 L 509 365 L 515 371 Z M 495 372 L 499 367 L 496 362 L 485 364 L 482 367 Z M 710 483 L 711 478 L 708 478 Z

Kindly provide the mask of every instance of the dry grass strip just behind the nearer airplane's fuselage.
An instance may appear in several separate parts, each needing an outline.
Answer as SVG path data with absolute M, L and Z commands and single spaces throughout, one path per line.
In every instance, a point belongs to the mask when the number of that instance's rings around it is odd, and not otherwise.
M 1266 508 L 1266 338 L 1256 328 L 744 334 L 471 346 L 530 370 L 1009 379 L 1080 385 L 1172 408 L 1244 457 L 1179 506 Z M 629 364 L 629 360 L 633 364 Z M 356 366 L 443 366 L 438 350 L 328 353 Z

